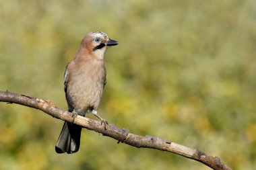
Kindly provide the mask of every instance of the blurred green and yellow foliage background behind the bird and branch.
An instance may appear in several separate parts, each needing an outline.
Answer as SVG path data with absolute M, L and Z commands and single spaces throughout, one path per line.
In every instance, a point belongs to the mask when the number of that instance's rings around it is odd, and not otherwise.
M 256 1 L 1 0 L 0 89 L 67 108 L 65 66 L 94 30 L 119 41 L 105 55 L 103 118 L 256 167 Z M 63 121 L 0 112 L 0 169 L 210 169 L 89 130 L 78 153 L 57 155 Z

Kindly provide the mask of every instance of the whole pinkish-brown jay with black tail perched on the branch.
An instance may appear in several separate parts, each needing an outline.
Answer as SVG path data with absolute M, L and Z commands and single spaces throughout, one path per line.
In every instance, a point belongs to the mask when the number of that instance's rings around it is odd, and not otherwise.
M 97 112 L 106 85 L 104 54 L 108 47 L 119 44 L 104 32 L 86 34 L 75 57 L 67 64 L 64 89 L 67 106 L 72 116 L 94 114 L 104 124 L 108 122 Z M 65 122 L 55 146 L 56 153 L 76 153 L 80 146 L 82 126 Z

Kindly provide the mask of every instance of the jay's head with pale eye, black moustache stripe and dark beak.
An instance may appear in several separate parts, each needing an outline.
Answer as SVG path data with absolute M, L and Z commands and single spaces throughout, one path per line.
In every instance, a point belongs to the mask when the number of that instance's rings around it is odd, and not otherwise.
M 118 42 L 111 40 L 104 32 L 96 31 L 88 33 L 81 44 L 90 54 L 96 54 L 103 58 L 106 48 L 116 46 Z

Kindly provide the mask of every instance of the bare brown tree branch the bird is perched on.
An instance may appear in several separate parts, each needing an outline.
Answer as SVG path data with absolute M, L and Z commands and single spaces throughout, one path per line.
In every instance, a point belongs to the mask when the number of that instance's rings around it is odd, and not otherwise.
M 25 105 L 30 108 L 42 110 L 46 114 L 53 116 L 54 118 L 65 120 L 67 122 L 73 122 L 87 128 L 88 130 L 94 130 L 95 132 L 101 133 L 104 136 L 115 138 L 119 142 L 135 146 L 137 148 L 154 148 L 160 151 L 167 151 L 175 153 L 189 159 L 194 159 L 211 167 L 212 169 L 230 169 L 227 165 L 222 163 L 218 157 L 212 157 L 199 151 L 195 148 L 189 148 L 181 144 L 177 144 L 168 140 L 164 140 L 157 136 L 139 136 L 137 134 L 129 133 L 129 130 L 118 128 L 113 124 L 109 124 L 107 129 L 96 120 L 85 118 L 83 116 L 72 117 L 70 112 L 57 108 L 51 101 L 44 101 L 35 97 L 27 95 L 20 95 L 18 93 L 11 93 L 9 91 L 0 91 L 0 101 L 7 103 L 16 103 Z

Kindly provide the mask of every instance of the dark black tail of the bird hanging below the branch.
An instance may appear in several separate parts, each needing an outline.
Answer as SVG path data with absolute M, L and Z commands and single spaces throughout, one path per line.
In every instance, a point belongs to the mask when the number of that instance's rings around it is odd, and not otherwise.
M 56 153 L 76 153 L 80 146 L 82 127 L 65 122 L 55 146 Z

